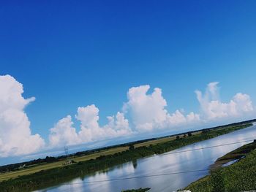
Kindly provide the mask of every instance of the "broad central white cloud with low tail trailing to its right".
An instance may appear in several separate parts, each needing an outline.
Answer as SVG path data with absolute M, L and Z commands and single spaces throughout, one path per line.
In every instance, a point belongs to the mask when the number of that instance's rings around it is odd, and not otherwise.
M 129 113 L 137 131 L 171 128 L 200 120 L 200 116 L 194 112 L 184 115 L 181 110 L 176 110 L 170 114 L 166 110 L 167 102 L 162 96 L 162 90 L 154 88 L 153 93 L 148 93 L 149 89 L 149 85 L 142 85 L 130 88 L 127 93 L 128 101 L 123 110 Z

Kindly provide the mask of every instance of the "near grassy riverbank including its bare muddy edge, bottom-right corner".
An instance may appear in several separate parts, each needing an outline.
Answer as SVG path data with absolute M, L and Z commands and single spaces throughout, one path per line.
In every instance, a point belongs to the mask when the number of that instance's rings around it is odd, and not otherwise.
M 187 190 L 192 192 L 236 192 L 256 189 L 256 142 L 233 150 L 218 158 L 211 174 L 191 183 Z M 245 157 L 244 157 L 245 156 Z M 241 158 L 244 157 L 244 158 Z M 241 158 L 235 164 L 221 167 L 229 161 Z

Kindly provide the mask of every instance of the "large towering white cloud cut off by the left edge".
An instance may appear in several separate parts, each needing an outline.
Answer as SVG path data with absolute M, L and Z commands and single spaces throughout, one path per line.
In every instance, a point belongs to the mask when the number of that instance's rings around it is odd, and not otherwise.
M 0 76 L 0 157 L 33 153 L 45 145 L 31 134 L 24 108 L 35 98 L 24 99 L 23 85 L 10 75 Z

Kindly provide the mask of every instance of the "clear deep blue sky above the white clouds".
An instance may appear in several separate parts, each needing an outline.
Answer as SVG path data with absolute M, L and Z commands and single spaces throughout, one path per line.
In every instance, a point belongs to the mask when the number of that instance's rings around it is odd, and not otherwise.
M 99 124 L 129 88 L 161 88 L 168 112 L 200 112 L 195 90 L 256 103 L 256 1 L 1 3 L 0 73 L 23 84 L 32 134 L 95 104 Z M 79 123 L 73 120 L 78 129 Z M 223 121 L 224 122 L 224 121 Z

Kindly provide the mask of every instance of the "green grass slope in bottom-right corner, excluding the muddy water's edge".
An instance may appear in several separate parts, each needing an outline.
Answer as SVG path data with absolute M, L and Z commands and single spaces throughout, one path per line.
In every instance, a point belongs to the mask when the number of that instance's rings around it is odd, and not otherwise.
M 192 192 L 238 192 L 256 190 L 256 150 L 241 161 L 197 180 L 186 188 Z

